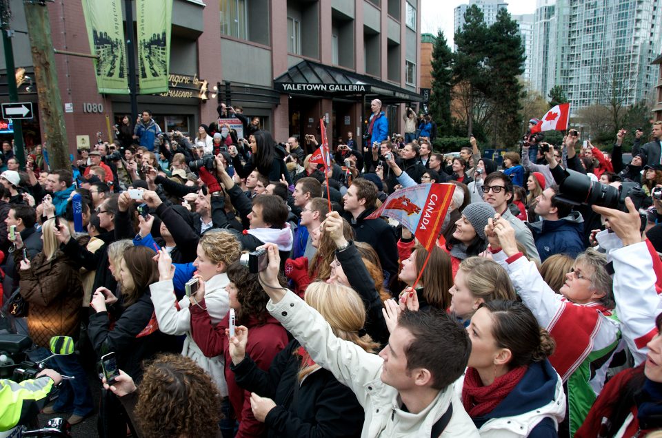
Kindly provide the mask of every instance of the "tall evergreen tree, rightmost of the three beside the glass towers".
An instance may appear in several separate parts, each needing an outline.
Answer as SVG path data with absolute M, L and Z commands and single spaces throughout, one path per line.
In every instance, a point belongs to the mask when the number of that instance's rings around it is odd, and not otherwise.
M 505 8 L 496 14 L 488 31 L 489 96 L 492 103 L 490 132 L 495 145 L 510 147 L 521 136 L 525 95 L 519 77 L 524 72 L 524 46 L 519 28 Z

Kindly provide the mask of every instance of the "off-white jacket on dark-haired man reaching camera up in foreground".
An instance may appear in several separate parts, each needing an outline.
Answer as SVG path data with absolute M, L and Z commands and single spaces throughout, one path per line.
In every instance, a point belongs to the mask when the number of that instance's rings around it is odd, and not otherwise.
M 357 396 L 365 411 L 363 438 L 429 438 L 434 423 L 453 406 L 453 414 L 441 437 L 479 437 L 476 426 L 465 412 L 453 388 L 442 390 L 421 413 L 401 410 L 398 391 L 381 379 L 383 360 L 367 353 L 353 342 L 341 340 L 331 331 L 328 322 L 298 295 L 288 291 L 274 304 L 267 304 L 270 313 L 286 330 L 301 342 L 310 357 L 334 377 L 347 385 Z M 436 437 L 435 437 L 436 438 Z

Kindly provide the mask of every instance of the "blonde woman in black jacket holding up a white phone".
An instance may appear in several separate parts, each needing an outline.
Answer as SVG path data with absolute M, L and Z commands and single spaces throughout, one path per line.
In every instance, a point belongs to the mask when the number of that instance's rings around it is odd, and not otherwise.
M 305 291 L 305 302 L 321 313 L 334 335 L 369 353 L 377 350 L 370 335 L 361 335 L 365 308 L 350 287 L 314 282 Z M 297 340 L 263 371 L 246 352 L 252 331 L 239 326 L 235 333 L 229 343 L 230 368 L 237 384 L 252 393 L 253 414 L 269 428 L 269 437 L 361 436 L 364 415 L 356 395 L 315 364 Z

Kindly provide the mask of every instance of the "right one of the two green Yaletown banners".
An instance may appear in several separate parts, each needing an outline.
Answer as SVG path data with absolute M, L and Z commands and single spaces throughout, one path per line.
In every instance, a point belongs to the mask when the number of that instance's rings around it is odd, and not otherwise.
M 137 0 L 139 94 L 168 92 L 172 0 Z

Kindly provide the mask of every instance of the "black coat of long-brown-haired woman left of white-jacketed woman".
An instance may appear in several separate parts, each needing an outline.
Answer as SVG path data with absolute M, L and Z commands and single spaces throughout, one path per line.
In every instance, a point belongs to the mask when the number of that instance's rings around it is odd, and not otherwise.
M 112 330 L 109 312 L 95 312 L 90 315 L 88 336 L 99 357 L 114 351 L 117 366 L 136 382 L 139 382 L 143 376 L 143 360 L 151 359 L 161 352 L 181 351 L 179 348 L 181 345 L 176 337 L 165 335 L 158 329 L 149 335 L 137 337 L 146 328 L 154 313 L 149 289 L 126 309 L 119 304 L 115 309 L 112 307 L 110 313 L 116 317 Z

